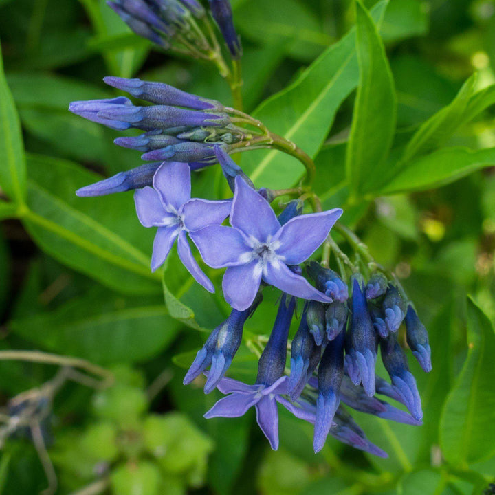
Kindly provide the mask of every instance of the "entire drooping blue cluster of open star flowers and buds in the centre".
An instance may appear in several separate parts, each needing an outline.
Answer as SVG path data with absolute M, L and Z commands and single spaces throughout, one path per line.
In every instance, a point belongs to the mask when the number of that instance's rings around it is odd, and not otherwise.
M 181 1 L 182 5 L 194 5 L 189 0 Z M 170 2 L 114 3 L 129 13 L 136 5 L 144 9 L 144 5 L 150 8 Z M 210 3 L 213 8 L 215 1 Z M 229 17 L 228 12 L 222 14 L 223 7 L 220 5 L 214 14 L 221 28 Z M 151 10 L 157 14 L 156 9 Z M 133 19 L 137 12 L 142 14 L 144 10 L 134 9 Z M 143 22 L 144 17 L 142 14 Z M 149 23 L 152 18 L 146 19 Z M 227 23 L 223 28 L 228 43 L 237 41 Z M 115 144 L 142 151 L 142 158 L 153 162 L 86 186 L 77 194 L 98 196 L 135 190 L 140 222 L 144 227 L 157 228 L 152 270 L 166 261 L 176 241 L 179 259 L 208 291 L 214 292 L 215 286 L 200 263 L 213 269 L 225 268 L 222 289 L 232 311 L 210 333 L 184 378 L 184 384 L 189 384 L 204 373 L 206 393 L 218 388 L 227 395 L 206 417 L 239 417 L 254 406 L 259 426 L 272 448 L 277 448 L 278 404 L 282 404 L 296 417 L 314 424 L 316 452 L 331 434 L 355 448 L 386 456 L 366 439 L 348 408 L 391 421 L 421 424 L 421 399 L 397 338 L 402 322 L 406 323 L 408 346 L 425 371 L 431 369 L 430 347 L 428 333 L 404 290 L 384 272 L 366 272 L 365 283 L 357 267 L 351 273 L 340 266 L 338 274 L 327 267 L 328 258 L 321 264 L 311 260 L 342 210 L 303 214 L 305 199 L 310 195 L 295 188 L 291 191 L 298 199 L 276 215 L 270 203 L 277 192 L 256 190 L 229 156 L 234 151 L 271 146 L 273 135 L 261 122 L 215 100 L 163 83 L 113 77 L 105 78 L 105 82 L 152 105 L 137 107 L 120 96 L 74 102 L 70 110 L 111 129 L 144 131 L 137 136 L 118 137 Z M 254 129 L 248 130 L 245 125 Z M 217 162 L 233 198 L 191 198 L 191 170 Z M 192 248 L 197 249 L 202 262 L 198 263 Z M 225 373 L 243 341 L 245 322 L 261 304 L 267 286 L 280 289 L 281 303 L 260 355 L 256 381 L 243 384 L 225 377 Z M 303 310 L 298 329 L 289 340 L 296 298 L 303 300 Z M 379 348 L 391 382 L 375 374 Z M 290 373 L 285 372 L 287 349 Z M 399 402 L 409 412 L 376 394 Z

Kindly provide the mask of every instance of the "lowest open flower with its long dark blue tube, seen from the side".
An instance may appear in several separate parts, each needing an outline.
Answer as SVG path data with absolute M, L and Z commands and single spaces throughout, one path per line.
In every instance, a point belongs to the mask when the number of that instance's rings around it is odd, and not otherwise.
M 272 449 L 278 449 L 278 410 L 276 401 L 287 393 L 287 377 L 283 376 L 289 327 L 296 307 L 294 298 L 282 296 L 274 328 L 258 365 L 256 384 L 247 385 L 237 380 L 223 378 L 217 388 L 230 394 L 220 399 L 206 415 L 212 417 L 239 417 L 249 408 L 256 408 L 256 421 L 270 441 Z

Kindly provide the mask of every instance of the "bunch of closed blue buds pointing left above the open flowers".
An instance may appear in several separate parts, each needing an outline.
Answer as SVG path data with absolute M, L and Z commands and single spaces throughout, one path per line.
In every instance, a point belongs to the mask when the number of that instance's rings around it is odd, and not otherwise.
M 106 77 L 104 82 L 151 105 L 136 106 L 129 98 L 118 96 L 72 102 L 69 111 L 110 129 L 145 131 L 137 136 L 117 137 L 114 142 L 141 151 L 142 159 L 152 163 L 82 188 L 78 191 L 80 196 L 151 186 L 153 175 L 163 162 L 187 163 L 191 170 L 217 163 L 214 148 L 222 153 L 239 153 L 272 144 L 270 133 L 263 126 L 260 129 L 260 122 L 216 100 L 137 78 Z

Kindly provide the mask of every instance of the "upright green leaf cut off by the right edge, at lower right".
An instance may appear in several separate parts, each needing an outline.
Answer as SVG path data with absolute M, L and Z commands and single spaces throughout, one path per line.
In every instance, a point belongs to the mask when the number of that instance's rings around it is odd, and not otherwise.
M 467 300 L 467 358 L 450 391 L 440 425 L 440 445 L 450 463 L 467 467 L 495 454 L 495 333 Z

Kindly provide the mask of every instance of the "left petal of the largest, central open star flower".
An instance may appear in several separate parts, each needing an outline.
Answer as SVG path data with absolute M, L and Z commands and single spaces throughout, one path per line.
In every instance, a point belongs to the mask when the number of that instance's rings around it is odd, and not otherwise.
M 251 251 L 245 244 L 244 237 L 231 227 L 209 225 L 208 227 L 189 233 L 197 245 L 204 262 L 212 268 L 223 268 L 245 263 L 245 257 Z

